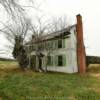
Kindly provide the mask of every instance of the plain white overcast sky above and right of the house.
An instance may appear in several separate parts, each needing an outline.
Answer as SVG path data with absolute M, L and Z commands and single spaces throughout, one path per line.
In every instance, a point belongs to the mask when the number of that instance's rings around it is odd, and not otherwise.
M 38 0 L 37 0 L 38 1 Z M 41 0 L 40 0 L 41 1 Z M 76 15 L 81 14 L 84 25 L 84 41 L 87 54 L 100 56 L 100 1 L 99 0 L 43 0 L 40 9 L 46 16 L 66 15 L 74 24 Z M 33 13 L 30 11 L 29 15 Z M 4 18 L 1 17 L 0 20 Z M 67 23 L 67 21 L 66 21 Z M 0 37 L 1 39 L 1 37 Z M 0 40 L 2 43 L 5 41 Z M 1 48 L 2 46 L 0 46 Z

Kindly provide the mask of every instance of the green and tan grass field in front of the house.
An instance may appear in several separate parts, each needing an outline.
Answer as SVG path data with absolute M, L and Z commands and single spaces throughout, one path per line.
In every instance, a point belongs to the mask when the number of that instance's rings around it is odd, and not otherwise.
M 85 75 L 21 71 L 0 62 L 0 100 L 100 100 L 100 66 Z

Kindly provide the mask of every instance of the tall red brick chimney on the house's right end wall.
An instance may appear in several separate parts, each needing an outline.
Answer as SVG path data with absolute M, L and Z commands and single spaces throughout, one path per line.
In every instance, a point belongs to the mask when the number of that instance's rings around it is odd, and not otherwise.
M 76 16 L 77 18 L 77 62 L 78 62 L 78 71 L 79 73 L 86 72 L 86 54 L 83 40 L 83 25 L 82 25 L 82 17 L 80 14 Z

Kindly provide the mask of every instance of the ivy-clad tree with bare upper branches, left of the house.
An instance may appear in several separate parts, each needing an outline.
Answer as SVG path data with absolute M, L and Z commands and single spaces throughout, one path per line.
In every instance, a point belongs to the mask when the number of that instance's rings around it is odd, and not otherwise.
M 31 7 L 35 8 L 35 0 L 28 0 Z M 25 7 L 20 4 L 20 0 L 0 0 L 7 14 L 10 16 L 10 22 L 6 24 L 0 22 L 3 28 L 0 31 L 5 34 L 8 41 L 10 41 L 10 48 L 13 49 L 13 57 L 17 59 L 21 68 L 27 67 L 27 54 L 24 49 L 24 41 L 30 28 L 30 20 L 25 17 Z M 9 20 L 9 19 L 8 19 Z

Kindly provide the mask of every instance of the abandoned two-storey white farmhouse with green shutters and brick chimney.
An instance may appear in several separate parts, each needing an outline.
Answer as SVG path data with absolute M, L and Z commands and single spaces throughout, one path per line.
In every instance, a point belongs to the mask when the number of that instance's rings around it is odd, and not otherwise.
M 81 15 L 77 15 L 76 19 L 76 24 L 47 34 L 39 42 L 32 42 L 29 58 L 31 66 L 41 66 L 48 71 L 85 73 L 86 57 Z M 36 47 L 41 55 L 39 61 Z

